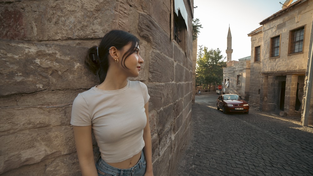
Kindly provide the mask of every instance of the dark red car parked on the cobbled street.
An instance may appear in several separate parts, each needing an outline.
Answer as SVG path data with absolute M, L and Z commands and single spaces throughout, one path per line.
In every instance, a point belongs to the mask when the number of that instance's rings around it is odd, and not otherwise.
M 223 113 L 244 112 L 249 113 L 249 104 L 237 94 L 220 95 L 217 99 L 217 110 L 222 109 Z

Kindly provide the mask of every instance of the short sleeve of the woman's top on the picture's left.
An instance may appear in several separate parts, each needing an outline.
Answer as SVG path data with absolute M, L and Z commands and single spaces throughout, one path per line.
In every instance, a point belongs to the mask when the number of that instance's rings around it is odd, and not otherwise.
M 92 124 L 88 104 L 81 94 L 74 99 L 71 124 L 74 126 L 89 126 Z

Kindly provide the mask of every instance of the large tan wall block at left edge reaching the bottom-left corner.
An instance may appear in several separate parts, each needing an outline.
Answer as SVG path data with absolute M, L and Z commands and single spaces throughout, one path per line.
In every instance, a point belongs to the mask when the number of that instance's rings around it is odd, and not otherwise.
M 2 150 L 0 173 L 34 164 L 45 159 L 75 152 L 70 126 L 35 128 L 17 133 L 1 132 Z

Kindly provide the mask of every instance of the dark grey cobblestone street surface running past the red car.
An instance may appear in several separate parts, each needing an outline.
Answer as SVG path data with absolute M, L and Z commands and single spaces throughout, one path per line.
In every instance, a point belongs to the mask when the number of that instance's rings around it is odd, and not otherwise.
M 313 128 L 301 126 L 300 116 L 253 107 L 249 114 L 223 114 L 217 98 L 196 96 L 192 138 L 175 175 L 313 175 Z

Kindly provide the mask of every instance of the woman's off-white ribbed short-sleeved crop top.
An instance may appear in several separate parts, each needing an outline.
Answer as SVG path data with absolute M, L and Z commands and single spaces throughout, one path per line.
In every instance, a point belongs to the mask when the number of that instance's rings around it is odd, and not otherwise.
M 145 146 L 143 129 L 149 101 L 147 86 L 129 81 L 118 90 L 93 87 L 79 93 L 73 102 L 71 124 L 89 126 L 98 143 L 101 158 L 117 163 L 131 158 Z

